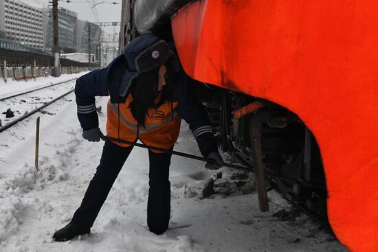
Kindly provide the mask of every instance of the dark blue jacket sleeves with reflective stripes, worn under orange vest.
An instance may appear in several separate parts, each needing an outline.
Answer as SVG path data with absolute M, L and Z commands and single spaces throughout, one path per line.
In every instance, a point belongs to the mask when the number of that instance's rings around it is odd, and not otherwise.
M 76 103 L 78 119 L 83 130 L 98 127 L 98 114 L 95 97 L 110 95 L 112 103 L 124 103 L 126 97 L 121 97 L 122 78 L 127 64 L 124 54 L 115 58 L 108 67 L 91 71 L 76 80 Z M 210 126 L 208 115 L 202 104 L 197 100 L 188 85 L 189 77 L 181 69 L 177 73 L 177 81 L 173 86 L 172 102 L 178 102 L 175 111 L 188 124 L 197 140 L 203 157 L 210 152 L 218 152 L 216 139 Z

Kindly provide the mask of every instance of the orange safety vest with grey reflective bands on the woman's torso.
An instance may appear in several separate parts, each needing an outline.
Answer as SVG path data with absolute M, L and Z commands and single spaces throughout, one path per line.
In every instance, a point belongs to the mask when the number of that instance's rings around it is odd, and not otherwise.
M 161 94 L 156 100 L 159 100 Z M 156 102 L 155 100 L 155 102 Z M 144 144 L 164 149 L 170 149 L 179 137 L 181 117 L 175 111 L 178 102 L 164 102 L 158 108 L 150 108 L 146 115 L 145 127 L 137 125 L 131 114 L 129 105 L 133 101 L 131 93 L 122 104 L 108 102 L 107 135 L 127 141 L 139 138 Z M 119 124 L 118 124 L 119 123 Z M 118 128 L 119 127 L 119 128 Z M 118 146 L 129 147 L 129 144 L 118 143 Z M 153 152 L 159 153 L 157 150 Z

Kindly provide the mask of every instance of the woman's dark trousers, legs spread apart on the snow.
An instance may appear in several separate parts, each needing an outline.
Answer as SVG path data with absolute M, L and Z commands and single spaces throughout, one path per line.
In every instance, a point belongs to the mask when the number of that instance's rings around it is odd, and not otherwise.
M 80 207 L 71 222 L 82 228 L 92 227 L 102 204 L 133 147 L 120 147 L 106 141 L 100 165 L 89 183 Z M 150 231 L 161 234 L 168 229 L 170 217 L 169 165 L 172 154 L 155 153 L 148 150 L 150 174 L 147 205 L 147 225 Z

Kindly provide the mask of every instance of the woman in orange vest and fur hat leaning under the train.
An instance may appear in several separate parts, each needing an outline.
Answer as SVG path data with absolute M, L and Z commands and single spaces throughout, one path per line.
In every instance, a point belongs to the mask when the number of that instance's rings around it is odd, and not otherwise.
M 181 118 L 190 126 L 203 157 L 213 159 L 206 168 L 219 169 L 218 152 L 208 116 L 194 97 L 188 77 L 179 67 L 177 56 L 165 41 L 151 34 L 135 38 L 124 54 L 100 70 L 76 81 L 76 103 L 82 136 L 100 141 L 95 96 L 110 95 L 107 135 L 173 149 Z M 54 233 L 56 241 L 71 240 L 90 233 L 102 204 L 133 146 L 105 141 L 100 165 L 71 222 Z M 150 161 L 147 224 L 151 232 L 162 234 L 170 218 L 169 165 L 171 154 L 148 150 Z

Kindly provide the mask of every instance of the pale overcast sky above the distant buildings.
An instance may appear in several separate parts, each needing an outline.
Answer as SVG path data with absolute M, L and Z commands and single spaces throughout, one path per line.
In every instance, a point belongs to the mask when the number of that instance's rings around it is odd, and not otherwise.
M 122 0 L 67 0 L 58 1 L 58 7 L 66 8 L 78 13 L 78 19 L 90 22 L 120 22 L 121 21 L 121 3 Z M 35 7 L 47 7 L 49 0 L 21 0 L 21 2 Z M 105 2 L 105 3 L 102 3 Z M 113 5 L 111 2 L 120 4 Z M 93 8 L 91 6 L 97 4 Z M 96 16 L 97 15 L 97 16 Z M 119 33 L 120 27 L 103 27 L 107 34 Z

